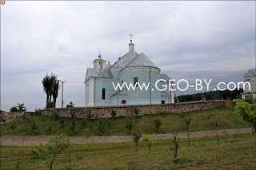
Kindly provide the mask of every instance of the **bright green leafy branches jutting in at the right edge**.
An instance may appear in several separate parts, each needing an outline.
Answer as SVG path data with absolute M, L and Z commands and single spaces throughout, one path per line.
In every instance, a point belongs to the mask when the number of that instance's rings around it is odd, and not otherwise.
M 241 99 L 235 99 L 233 102 L 236 105 L 234 112 L 253 128 L 252 134 L 256 137 L 256 99 L 252 99 L 250 103 Z

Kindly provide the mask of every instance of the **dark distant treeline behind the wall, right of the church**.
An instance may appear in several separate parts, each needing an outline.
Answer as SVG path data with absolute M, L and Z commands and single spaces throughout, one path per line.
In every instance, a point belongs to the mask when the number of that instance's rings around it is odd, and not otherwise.
M 195 93 L 195 94 L 186 94 L 178 96 L 179 102 L 186 102 L 186 101 L 200 101 L 203 97 L 206 98 L 206 101 L 212 100 L 233 100 L 234 98 L 241 97 L 240 93 L 242 93 L 242 89 L 235 89 L 234 91 L 230 91 L 228 89 L 224 91 L 210 91 L 204 93 Z

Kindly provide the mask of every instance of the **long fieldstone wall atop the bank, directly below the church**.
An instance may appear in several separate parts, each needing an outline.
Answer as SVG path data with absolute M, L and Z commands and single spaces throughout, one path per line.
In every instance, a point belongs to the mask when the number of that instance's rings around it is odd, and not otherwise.
M 175 104 L 163 105 L 122 105 L 122 106 L 102 106 L 102 107 L 84 107 L 84 108 L 57 108 L 43 109 L 42 115 L 53 117 L 58 113 L 59 117 L 71 117 L 70 113 L 74 112 L 78 118 L 88 118 L 91 114 L 92 119 L 109 118 L 112 110 L 116 111 L 116 117 L 127 117 L 133 115 L 134 107 L 138 107 L 138 115 L 157 114 L 157 113 L 181 113 L 194 110 L 213 109 L 230 105 L 230 101 L 191 101 Z

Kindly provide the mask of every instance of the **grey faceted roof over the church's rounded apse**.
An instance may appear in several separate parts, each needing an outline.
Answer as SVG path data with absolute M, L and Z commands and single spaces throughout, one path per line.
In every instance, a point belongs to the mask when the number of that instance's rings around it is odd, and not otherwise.
M 154 63 L 152 61 L 150 61 L 150 59 L 148 57 L 146 57 L 146 55 L 144 53 L 141 53 L 137 57 L 134 57 L 134 59 L 132 61 L 130 61 L 130 63 L 128 65 L 126 65 L 126 68 L 127 67 L 135 67 L 135 66 L 157 67 L 156 65 L 154 65 Z

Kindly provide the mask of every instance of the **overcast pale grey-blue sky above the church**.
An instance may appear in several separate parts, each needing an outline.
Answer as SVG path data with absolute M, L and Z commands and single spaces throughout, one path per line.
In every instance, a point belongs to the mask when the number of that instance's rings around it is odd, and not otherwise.
M 255 68 L 254 1 L 6 1 L 1 6 L 1 109 L 18 103 L 29 111 L 43 109 L 46 73 L 66 81 L 64 105 L 84 106 L 86 68 L 93 67 L 99 49 L 111 64 L 118 53 L 127 53 L 130 32 L 135 51 L 172 77 L 181 71 L 183 77 L 218 71 L 243 80 L 243 73 Z

